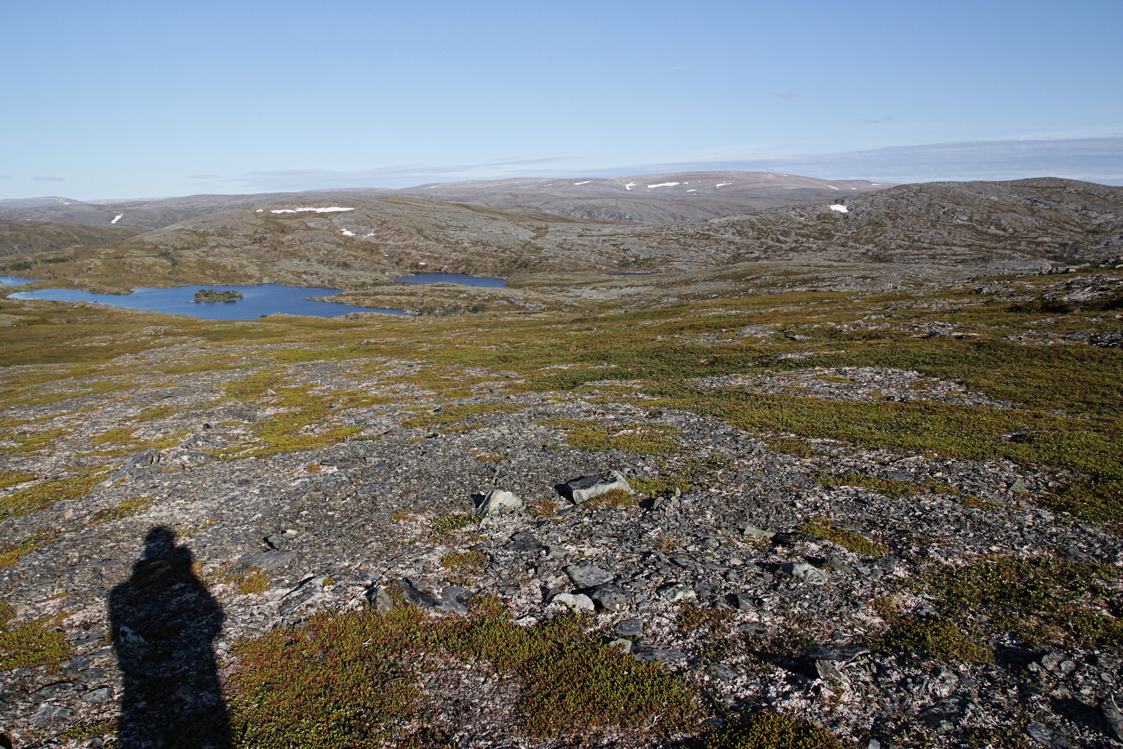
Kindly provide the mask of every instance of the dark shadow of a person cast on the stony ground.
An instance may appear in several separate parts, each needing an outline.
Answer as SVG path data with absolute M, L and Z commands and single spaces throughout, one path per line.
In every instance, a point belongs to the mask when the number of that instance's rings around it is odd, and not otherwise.
M 191 550 L 163 526 L 145 538 L 133 576 L 113 587 L 109 620 L 124 682 L 120 749 L 229 749 L 212 642 L 222 609 L 192 570 Z

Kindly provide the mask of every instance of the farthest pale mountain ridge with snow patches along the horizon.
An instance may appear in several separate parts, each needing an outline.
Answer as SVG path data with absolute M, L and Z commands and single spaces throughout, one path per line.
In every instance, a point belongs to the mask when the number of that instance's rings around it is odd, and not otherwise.
M 133 201 L 80 201 L 61 197 L 0 200 L 0 219 L 131 226 L 159 229 L 220 211 L 325 194 L 409 195 L 504 210 L 581 219 L 673 223 L 830 202 L 892 186 L 864 180 L 819 180 L 768 172 L 674 172 L 620 177 L 514 177 L 430 183 L 401 190 L 353 188 L 238 195 L 188 195 Z M 120 218 L 118 218 L 120 217 Z M 115 222 L 116 221 L 116 222 Z

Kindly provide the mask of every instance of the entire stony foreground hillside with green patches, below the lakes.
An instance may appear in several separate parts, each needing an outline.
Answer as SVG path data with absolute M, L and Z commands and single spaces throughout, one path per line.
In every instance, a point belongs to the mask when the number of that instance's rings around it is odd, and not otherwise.
M 1123 746 L 1099 265 L 594 317 L 6 300 L 0 729 Z

